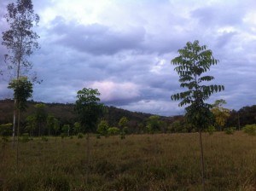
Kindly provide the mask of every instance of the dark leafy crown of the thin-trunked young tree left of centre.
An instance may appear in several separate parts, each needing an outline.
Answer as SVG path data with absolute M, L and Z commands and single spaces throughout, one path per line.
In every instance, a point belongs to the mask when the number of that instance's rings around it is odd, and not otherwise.
M 96 131 L 96 123 L 102 117 L 105 107 L 100 103 L 101 93 L 97 89 L 79 90 L 75 111 L 79 114 L 79 120 L 84 132 Z

